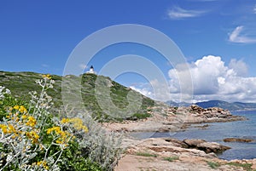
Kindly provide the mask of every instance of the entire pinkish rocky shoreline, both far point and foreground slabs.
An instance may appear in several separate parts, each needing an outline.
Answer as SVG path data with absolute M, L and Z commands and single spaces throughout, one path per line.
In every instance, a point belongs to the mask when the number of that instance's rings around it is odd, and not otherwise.
M 230 111 L 218 107 L 203 109 L 197 105 L 189 107 L 154 107 L 152 116 L 144 120 L 123 123 L 103 123 L 116 132 L 176 132 L 185 130 L 194 123 L 216 123 L 246 120 L 233 116 Z M 207 126 L 206 126 L 207 128 Z M 149 138 L 137 140 L 125 135 L 125 153 L 119 160 L 116 171 L 204 171 L 204 170 L 256 170 L 256 159 L 226 161 L 219 159 L 219 152 L 230 149 L 205 140 L 175 140 L 171 138 Z

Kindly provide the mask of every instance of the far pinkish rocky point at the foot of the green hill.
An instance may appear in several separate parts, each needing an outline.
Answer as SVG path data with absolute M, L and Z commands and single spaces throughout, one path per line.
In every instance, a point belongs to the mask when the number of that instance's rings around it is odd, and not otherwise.
M 245 117 L 233 116 L 230 111 L 218 107 L 203 109 L 198 105 L 189 107 L 152 108 L 153 117 L 122 123 L 103 123 L 103 126 L 117 132 L 177 132 L 185 130 L 194 123 L 224 123 L 246 120 Z

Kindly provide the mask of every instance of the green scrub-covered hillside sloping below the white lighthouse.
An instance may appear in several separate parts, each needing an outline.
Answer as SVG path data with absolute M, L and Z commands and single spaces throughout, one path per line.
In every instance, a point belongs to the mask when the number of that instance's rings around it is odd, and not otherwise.
M 19 99 L 29 100 L 29 92 L 40 91 L 40 87 L 38 86 L 38 84 L 35 83 L 35 81 L 40 79 L 41 77 L 42 74 L 35 72 L 0 71 L 0 86 L 9 88 L 12 94 Z M 53 80 L 55 80 L 55 86 L 53 89 L 49 89 L 48 94 L 54 99 L 55 109 L 59 109 L 63 105 L 61 100 L 62 77 L 56 75 L 52 75 L 51 77 Z M 103 119 L 107 121 L 123 119 L 136 120 L 139 118 L 149 117 L 147 112 L 148 107 L 154 105 L 154 100 L 151 100 L 148 97 L 145 97 L 137 93 L 136 91 L 131 90 L 131 88 L 126 88 L 119 83 L 112 81 L 109 77 L 96 76 L 94 74 L 83 74 L 80 77 L 67 76 L 65 77 L 65 80 L 67 82 L 70 82 L 66 84 L 69 87 L 68 94 L 70 94 L 70 97 L 72 97 L 73 91 L 81 91 L 83 105 L 86 111 L 88 111 L 92 115 L 92 117 L 96 117 L 97 119 Z M 79 80 L 81 81 L 81 83 L 79 83 L 79 85 L 73 84 L 73 80 Z M 101 100 L 103 100 L 104 102 L 107 102 L 105 104 L 106 106 L 109 105 L 108 102 L 112 102 L 116 107 L 121 110 L 116 110 L 117 108 L 111 108 L 108 112 L 102 110 L 102 105 L 100 106 L 98 100 L 96 99 L 96 88 L 101 89 L 100 93 L 110 89 L 110 94 L 107 92 L 109 94 L 109 97 L 107 97 L 105 94 L 98 94 L 98 97 L 100 97 Z M 142 101 L 142 105 L 137 111 L 132 114 L 132 116 L 126 115 L 125 113 L 125 107 L 129 105 L 129 102 L 127 100 L 127 94 L 130 94 L 130 99 L 134 103 L 134 105 L 136 105 L 137 103 L 139 104 Z M 140 97 L 142 99 L 137 97 Z M 76 103 L 75 100 L 73 100 L 72 102 L 73 105 Z M 109 112 L 113 113 L 113 115 L 109 115 Z

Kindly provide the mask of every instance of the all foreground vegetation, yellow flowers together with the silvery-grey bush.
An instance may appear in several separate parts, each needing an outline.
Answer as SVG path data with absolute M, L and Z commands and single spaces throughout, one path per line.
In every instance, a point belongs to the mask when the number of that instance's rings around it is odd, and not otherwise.
M 53 112 L 55 101 L 47 94 L 54 89 L 52 78 L 38 79 L 30 100 L 17 100 L 0 87 L 0 171 L 113 170 L 121 135 L 106 132 L 89 116 Z

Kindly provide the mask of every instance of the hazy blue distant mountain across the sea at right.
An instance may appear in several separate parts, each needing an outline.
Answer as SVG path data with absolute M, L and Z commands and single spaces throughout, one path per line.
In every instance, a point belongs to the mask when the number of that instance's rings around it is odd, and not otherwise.
M 241 103 L 241 102 L 229 103 L 227 101 L 222 101 L 222 100 L 203 101 L 203 102 L 195 103 L 195 105 L 199 105 L 203 108 L 221 107 L 223 109 L 228 109 L 230 111 L 256 109 L 256 103 Z

